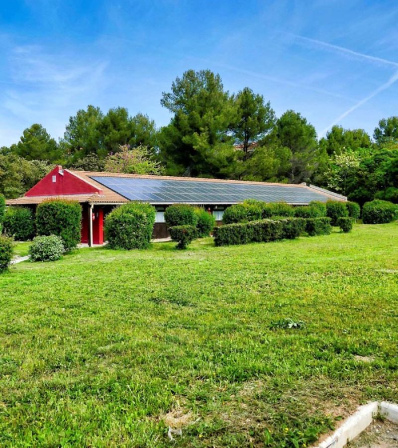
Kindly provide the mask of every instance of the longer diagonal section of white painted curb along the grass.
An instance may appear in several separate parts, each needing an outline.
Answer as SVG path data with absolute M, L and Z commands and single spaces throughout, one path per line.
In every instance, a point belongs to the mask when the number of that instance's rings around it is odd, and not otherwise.
M 355 439 L 372 423 L 373 416 L 378 411 L 379 402 L 377 401 L 360 406 L 355 414 L 349 417 L 330 437 L 318 445 L 318 448 L 345 447 L 350 440 Z

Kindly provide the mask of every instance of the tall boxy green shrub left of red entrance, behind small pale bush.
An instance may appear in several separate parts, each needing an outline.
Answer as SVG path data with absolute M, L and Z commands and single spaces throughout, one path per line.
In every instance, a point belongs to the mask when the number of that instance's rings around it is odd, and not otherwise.
M 36 231 L 39 236 L 61 236 L 66 251 L 80 242 L 82 208 L 77 201 L 55 199 L 37 206 Z

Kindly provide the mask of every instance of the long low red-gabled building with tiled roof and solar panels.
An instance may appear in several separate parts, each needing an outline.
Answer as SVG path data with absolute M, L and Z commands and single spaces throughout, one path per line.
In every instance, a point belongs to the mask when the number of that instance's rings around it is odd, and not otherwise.
M 129 201 L 149 202 L 156 208 L 154 237 L 168 236 L 164 220 L 167 206 L 175 203 L 205 207 L 218 224 L 223 211 L 245 199 L 306 205 L 328 199 L 346 201 L 345 196 L 306 184 L 276 184 L 220 179 L 149 176 L 73 171 L 55 167 L 23 197 L 7 205 L 36 208 L 48 199 L 69 199 L 82 205 L 82 242 L 103 243 L 103 219 L 115 206 Z

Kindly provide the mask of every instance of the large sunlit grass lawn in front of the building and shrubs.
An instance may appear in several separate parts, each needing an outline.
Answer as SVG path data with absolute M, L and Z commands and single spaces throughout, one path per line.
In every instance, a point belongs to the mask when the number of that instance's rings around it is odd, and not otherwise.
M 397 252 L 395 223 L 15 265 L 0 446 L 302 447 L 360 403 L 398 402 Z M 305 327 L 270 329 L 283 318 Z

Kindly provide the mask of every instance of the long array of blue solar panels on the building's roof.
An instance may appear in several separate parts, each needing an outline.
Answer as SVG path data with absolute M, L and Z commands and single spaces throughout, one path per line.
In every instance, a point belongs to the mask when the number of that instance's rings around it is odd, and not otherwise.
M 204 205 L 230 204 L 245 199 L 306 204 L 311 201 L 327 200 L 325 195 L 308 188 L 266 183 L 259 185 L 106 176 L 91 176 L 91 178 L 131 201 L 156 204 L 184 202 Z

